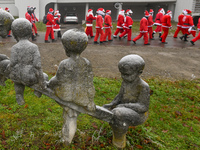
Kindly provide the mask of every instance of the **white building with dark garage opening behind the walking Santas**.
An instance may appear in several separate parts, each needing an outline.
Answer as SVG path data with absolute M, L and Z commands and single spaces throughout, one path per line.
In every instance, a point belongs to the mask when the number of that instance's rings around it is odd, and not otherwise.
M 116 5 L 116 3 L 121 5 Z M 42 20 L 49 8 L 60 10 L 62 17 L 66 12 L 75 12 L 79 20 L 85 20 L 88 9 L 93 9 L 94 14 L 100 7 L 110 9 L 112 18 L 116 20 L 120 9 L 132 9 L 133 19 L 140 20 L 145 10 L 153 9 L 154 17 L 159 8 L 173 12 L 173 20 L 178 20 L 178 15 L 183 9 L 190 9 L 193 14 L 200 16 L 200 0 L 0 0 L 0 7 L 8 7 L 13 16 L 25 17 L 27 6 L 36 7 L 36 16 Z M 117 7 L 116 7 L 117 6 Z M 119 8 L 119 9 L 116 9 Z

